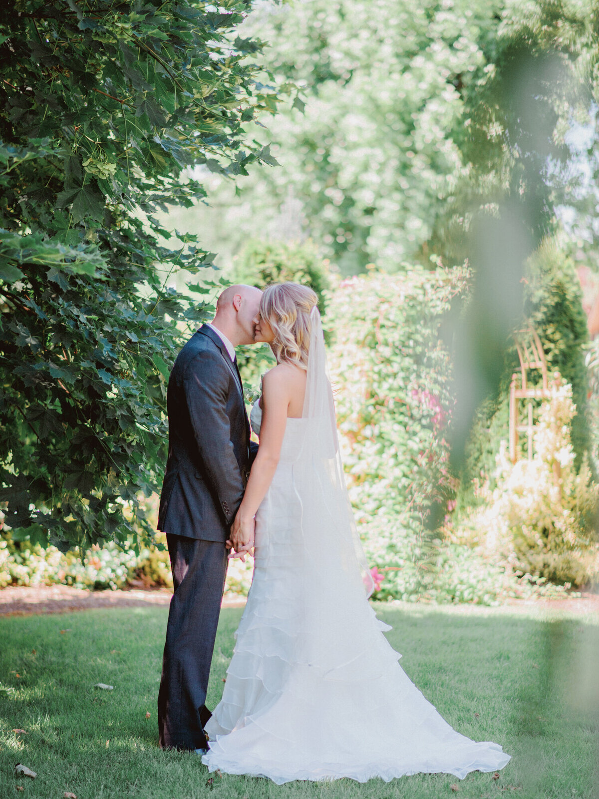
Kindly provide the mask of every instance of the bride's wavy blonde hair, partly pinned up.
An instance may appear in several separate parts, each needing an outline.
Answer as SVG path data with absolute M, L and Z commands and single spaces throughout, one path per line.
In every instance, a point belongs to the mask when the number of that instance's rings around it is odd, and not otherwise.
M 275 334 L 271 347 L 278 364 L 287 362 L 307 369 L 310 312 L 317 303 L 316 293 L 300 283 L 276 283 L 264 289 L 260 316 Z

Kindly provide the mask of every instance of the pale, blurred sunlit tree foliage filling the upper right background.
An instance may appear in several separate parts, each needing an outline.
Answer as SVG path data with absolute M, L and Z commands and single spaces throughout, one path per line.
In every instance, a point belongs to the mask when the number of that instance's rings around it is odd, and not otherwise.
M 502 193 L 550 226 L 573 181 L 553 174 L 549 197 L 548 157 L 559 173 L 565 130 L 597 83 L 595 13 L 590 0 L 259 6 L 249 30 L 300 93 L 269 125 L 282 169 L 246 189 L 245 235 L 291 194 L 307 233 L 351 274 L 426 265 L 430 252 L 463 260 L 472 211 Z

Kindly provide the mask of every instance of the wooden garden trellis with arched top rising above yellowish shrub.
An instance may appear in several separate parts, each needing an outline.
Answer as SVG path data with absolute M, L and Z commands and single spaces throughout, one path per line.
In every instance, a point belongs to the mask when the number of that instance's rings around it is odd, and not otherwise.
M 518 433 L 526 432 L 528 459 L 533 459 L 533 403 L 532 400 L 543 400 L 549 396 L 549 377 L 547 375 L 547 361 L 545 351 L 538 337 L 537 331 L 530 325 L 528 328 L 514 333 L 518 359 L 520 360 L 520 386 L 518 387 L 518 372 L 512 375 L 510 384 L 510 460 L 518 460 Z M 541 373 L 541 385 L 535 381 L 530 385 L 529 370 L 536 369 Z M 518 402 L 529 400 L 526 424 L 518 424 Z

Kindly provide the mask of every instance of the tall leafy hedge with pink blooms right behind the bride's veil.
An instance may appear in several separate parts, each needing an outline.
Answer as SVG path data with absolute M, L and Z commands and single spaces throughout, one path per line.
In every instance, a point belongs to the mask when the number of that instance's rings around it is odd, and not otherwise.
M 454 493 L 445 439 L 450 356 L 439 326 L 467 280 L 465 268 L 372 270 L 343 280 L 329 299 L 331 380 L 351 502 L 371 565 L 387 569 L 390 596 L 422 589 L 427 515 Z

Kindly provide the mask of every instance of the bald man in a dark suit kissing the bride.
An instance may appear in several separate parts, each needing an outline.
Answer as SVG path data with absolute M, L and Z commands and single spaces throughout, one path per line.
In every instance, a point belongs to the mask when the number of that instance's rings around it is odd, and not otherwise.
M 184 345 L 169 378 L 169 458 L 158 529 L 166 533 L 175 590 L 158 693 L 162 749 L 208 748 L 204 702 L 227 570 L 225 542 L 252 465 L 234 347 L 253 344 L 261 296 L 252 286 L 226 288 L 216 316 Z

